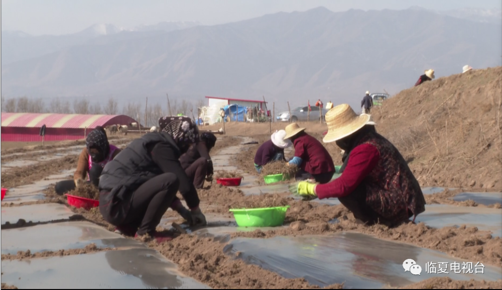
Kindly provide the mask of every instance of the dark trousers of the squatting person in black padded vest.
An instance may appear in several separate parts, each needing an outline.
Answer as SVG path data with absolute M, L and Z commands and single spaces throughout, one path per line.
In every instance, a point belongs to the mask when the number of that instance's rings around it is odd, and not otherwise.
M 164 173 L 143 183 L 134 192 L 129 213 L 119 226 L 138 229 L 138 235 L 155 232 L 179 187 L 180 181 L 174 173 Z

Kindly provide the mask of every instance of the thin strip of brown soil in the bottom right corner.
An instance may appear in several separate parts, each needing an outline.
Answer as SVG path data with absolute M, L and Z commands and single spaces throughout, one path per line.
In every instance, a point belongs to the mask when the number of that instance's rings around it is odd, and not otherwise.
M 449 277 L 429 278 L 425 281 L 418 282 L 400 289 L 501 289 L 502 280 L 485 281 L 474 280 L 458 281 L 452 280 Z

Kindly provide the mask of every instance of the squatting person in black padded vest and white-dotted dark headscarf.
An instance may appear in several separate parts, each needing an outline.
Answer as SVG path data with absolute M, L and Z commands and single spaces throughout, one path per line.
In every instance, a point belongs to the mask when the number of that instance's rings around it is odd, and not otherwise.
M 159 119 L 161 132 L 147 133 L 133 140 L 112 161 L 99 178 L 99 211 L 103 218 L 121 232 L 149 234 L 157 242 L 172 237 L 155 229 L 169 206 L 191 225 L 205 225 L 199 209 L 199 197 L 179 158 L 199 142 L 199 130 L 188 117 Z M 190 208 L 189 215 L 178 201 L 180 191 Z

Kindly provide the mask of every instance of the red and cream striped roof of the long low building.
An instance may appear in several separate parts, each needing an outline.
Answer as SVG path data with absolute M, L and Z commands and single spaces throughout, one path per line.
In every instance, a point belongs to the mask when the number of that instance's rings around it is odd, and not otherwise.
M 125 115 L 2 113 L 2 127 L 95 128 L 136 122 Z

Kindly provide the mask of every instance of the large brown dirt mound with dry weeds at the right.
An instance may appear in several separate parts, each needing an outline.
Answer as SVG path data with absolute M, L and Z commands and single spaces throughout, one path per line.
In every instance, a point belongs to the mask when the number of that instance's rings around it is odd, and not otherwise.
M 502 189 L 502 67 L 403 90 L 372 114 L 422 186 Z

